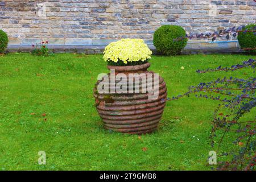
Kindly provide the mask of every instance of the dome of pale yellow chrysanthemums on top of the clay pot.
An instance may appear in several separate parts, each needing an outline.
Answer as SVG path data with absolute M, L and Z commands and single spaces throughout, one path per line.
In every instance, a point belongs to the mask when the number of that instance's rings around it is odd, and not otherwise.
M 103 59 L 105 61 L 145 61 L 151 59 L 152 51 L 142 39 L 121 39 L 106 46 Z

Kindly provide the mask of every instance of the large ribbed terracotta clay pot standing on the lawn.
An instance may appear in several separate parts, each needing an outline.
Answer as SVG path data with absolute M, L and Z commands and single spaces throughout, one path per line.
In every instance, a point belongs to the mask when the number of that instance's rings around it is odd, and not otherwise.
M 154 76 L 154 72 L 147 71 L 148 67 L 150 63 L 134 66 L 108 65 L 108 69 L 115 69 L 115 75 L 118 73 L 125 73 L 125 75 L 151 73 Z M 162 77 L 159 76 L 159 95 L 155 100 L 148 99 L 149 93 L 100 94 L 97 91 L 99 82 L 94 88 L 94 98 L 105 129 L 128 134 L 145 134 L 155 131 L 167 99 L 166 83 Z

